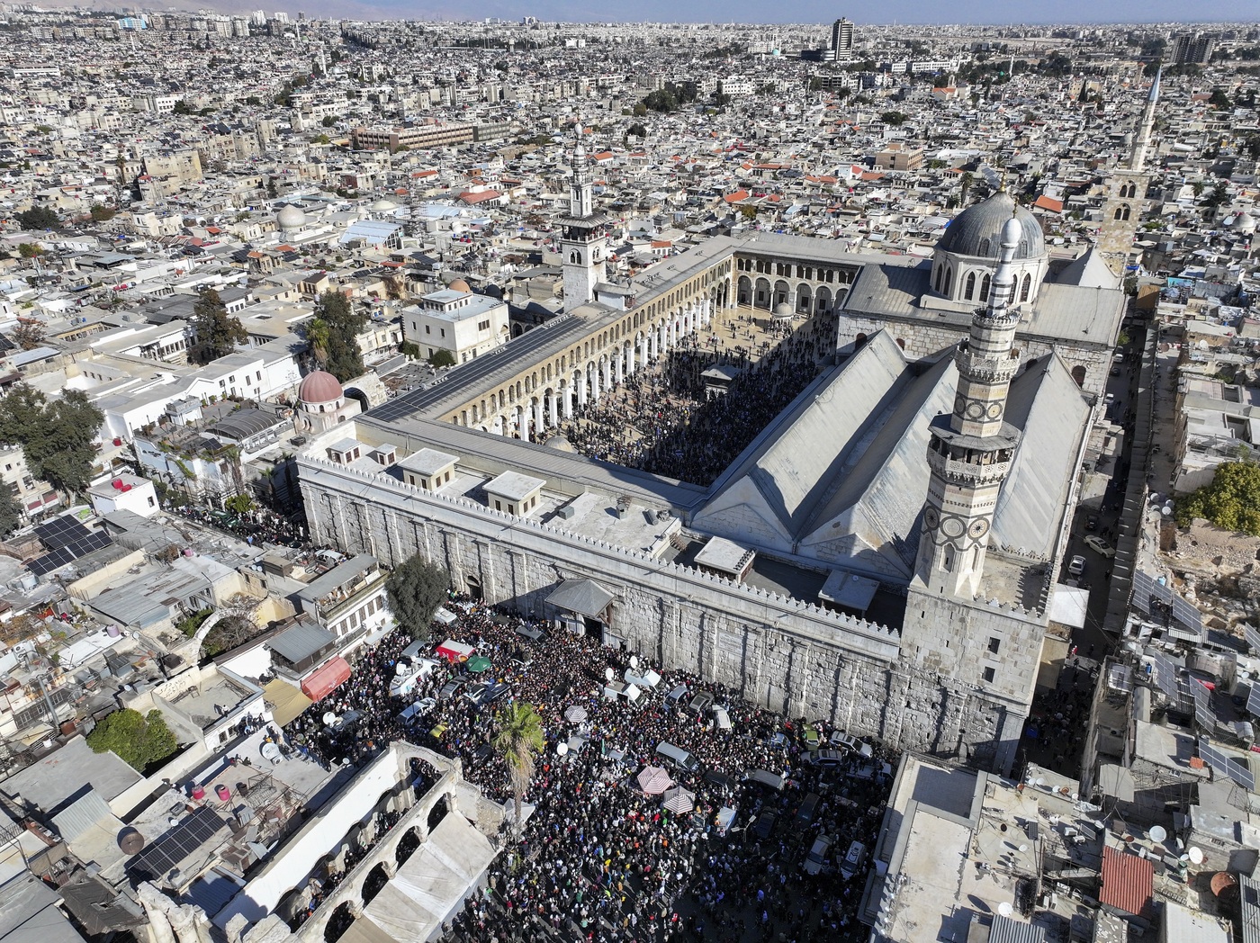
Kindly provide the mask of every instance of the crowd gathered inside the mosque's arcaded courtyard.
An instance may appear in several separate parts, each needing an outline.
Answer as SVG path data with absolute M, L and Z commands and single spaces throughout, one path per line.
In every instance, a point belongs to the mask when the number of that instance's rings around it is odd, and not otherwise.
M 627 376 L 622 387 L 578 407 L 561 424 L 582 455 L 708 485 L 814 380 L 834 353 L 835 316 L 818 315 L 791 330 L 771 322 L 767 334 L 755 315 L 714 325 L 718 335 L 692 332 L 665 356 Z M 740 341 L 746 341 L 747 346 Z M 704 371 L 728 368 L 728 383 Z M 724 387 L 726 393 L 717 392 Z

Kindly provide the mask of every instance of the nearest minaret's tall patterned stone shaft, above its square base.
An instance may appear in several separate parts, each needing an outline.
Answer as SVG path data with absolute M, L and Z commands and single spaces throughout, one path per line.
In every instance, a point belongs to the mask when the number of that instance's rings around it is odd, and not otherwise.
M 1019 369 L 1013 350 L 1019 313 L 1011 301 L 1021 237 L 1019 220 L 1012 215 L 1002 227 L 988 307 L 975 312 L 970 337 L 954 353 L 954 412 L 937 415 L 930 428 L 931 478 L 915 578 L 932 594 L 970 599 L 979 593 L 998 492 L 1019 444 L 1019 431 L 1005 422 L 1005 407 L 1011 378 Z

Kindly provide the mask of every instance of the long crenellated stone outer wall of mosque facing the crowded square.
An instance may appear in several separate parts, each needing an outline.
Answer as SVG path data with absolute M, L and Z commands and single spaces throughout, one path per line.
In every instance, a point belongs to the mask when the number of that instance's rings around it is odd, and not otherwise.
M 615 597 L 610 633 L 629 651 L 785 716 L 825 719 L 902 749 L 992 758 L 1008 718 L 1027 710 L 921 666 L 903 656 L 896 631 L 850 616 L 387 475 L 311 456 L 299 458 L 299 473 L 315 540 L 388 565 L 420 553 L 457 588 L 546 616 L 557 614 L 546 601 L 561 582 L 595 579 Z

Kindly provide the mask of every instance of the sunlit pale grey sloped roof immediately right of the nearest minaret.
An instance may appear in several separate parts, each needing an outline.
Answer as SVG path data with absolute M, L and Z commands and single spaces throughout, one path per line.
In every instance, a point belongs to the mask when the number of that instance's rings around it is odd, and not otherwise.
M 1011 384 L 1007 422 L 1023 438 L 998 495 L 993 539 L 1048 559 L 1072 485 L 1090 407 L 1063 361 L 1047 354 Z

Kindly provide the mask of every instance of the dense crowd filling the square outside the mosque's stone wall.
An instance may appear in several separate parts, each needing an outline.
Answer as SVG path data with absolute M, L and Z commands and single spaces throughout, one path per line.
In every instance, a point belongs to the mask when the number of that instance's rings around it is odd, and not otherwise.
M 447 928 L 449 943 L 866 939 L 856 915 L 866 872 L 847 876 L 840 862 L 854 840 L 873 847 L 891 755 L 847 752 L 840 765 L 816 767 L 804 734 L 813 728 L 825 747 L 827 725 L 780 718 L 682 671 L 660 672 L 636 703 L 610 699 L 606 672 L 620 679 L 631 667 L 622 652 L 469 601 L 450 608 L 459 618 L 446 631 L 491 660 L 486 675 L 507 685 L 510 699 L 534 705 L 547 745 L 525 796 L 532 815 L 520 842 L 512 840 L 509 813 L 508 847 L 488 886 Z M 517 632 L 525 624 L 547 635 L 530 641 Z M 391 697 L 410 641 L 396 631 L 365 651 L 348 682 L 289 725 L 290 743 L 331 764 L 364 762 L 406 738 L 462 758 L 467 779 L 495 801 L 509 799 L 507 765 L 486 748 L 498 705 L 474 706 L 461 696 L 467 687 L 441 695 L 451 680 L 486 675 L 464 677 L 460 665 L 444 662 L 406 699 Z M 704 691 L 724 706 L 730 729 L 718 726 L 712 708 L 690 708 Z M 431 706 L 403 724 L 399 714 L 415 703 Z M 338 724 L 325 723 L 329 711 Z M 668 768 L 690 793 L 690 811 L 672 812 L 662 794 L 639 786 L 640 771 L 663 764 L 662 740 L 701 762 L 693 773 Z M 782 788 L 745 781 L 755 769 L 781 776 Z M 810 793 L 818 806 L 803 815 Z M 719 825 L 723 808 L 733 816 Z M 811 876 L 803 865 L 819 835 L 833 844 Z M 324 894 L 331 886 L 335 878 Z M 330 943 L 345 923 L 330 924 Z

